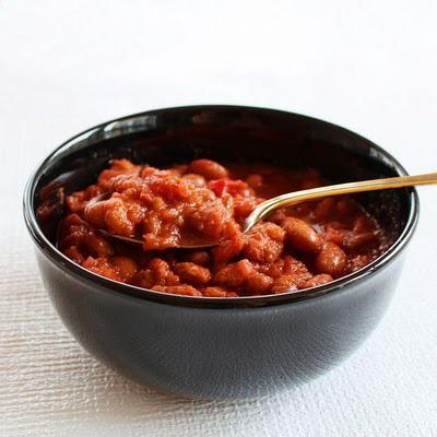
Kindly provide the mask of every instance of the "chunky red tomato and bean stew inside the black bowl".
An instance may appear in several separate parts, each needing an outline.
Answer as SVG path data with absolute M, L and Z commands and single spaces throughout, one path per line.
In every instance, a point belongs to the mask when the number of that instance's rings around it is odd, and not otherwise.
M 158 169 L 116 160 L 95 185 L 67 197 L 59 248 L 92 272 L 164 293 L 236 297 L 314 287 L 386 249 L 382 229 L 362 205 L 326 198 L 276 210 L 246 234 L 241 224 L 268 198 L 323 184 L 312 169 L 209 160 Z M 177 249 L 187 241 L 218 244 Z

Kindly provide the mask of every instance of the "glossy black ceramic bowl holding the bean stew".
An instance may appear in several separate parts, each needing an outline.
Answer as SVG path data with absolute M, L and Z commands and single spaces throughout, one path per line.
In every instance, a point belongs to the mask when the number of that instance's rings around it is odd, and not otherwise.
M 281 295 L 175 296 L 114 282 L 66 258 L 56 248 L 61 208 L 54 220 L 38 223 L 42 200 L 57 205 L 63 194 L 90 185 L 114 157 L 156 166 L 196 157 L 310 165 L 334 182 L 405 170 L 379 146 L 338 126 L 239 106 L 151 110 L 97 126 L 59 146 L 24 193 L 43 281 L 78 341 L 128 377 L 210 399 L 292 388 L 345 359 L 386 311 L 417 222 L 414 189 L 358 197 L 392 244 L 353 274 Z

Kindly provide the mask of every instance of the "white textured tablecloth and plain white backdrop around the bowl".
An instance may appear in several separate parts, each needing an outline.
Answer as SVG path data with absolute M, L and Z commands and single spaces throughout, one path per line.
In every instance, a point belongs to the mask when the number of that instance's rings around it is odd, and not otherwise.
M 54 314 L 21 216 L 32 168 L 101 121 L 201 103 L 345 126 L 437 169 L 437 2 L 0 0 L 0 435 L 437 435 L 436 188 L 392 305 L 294 392 L 184 400 L 85 353 Z

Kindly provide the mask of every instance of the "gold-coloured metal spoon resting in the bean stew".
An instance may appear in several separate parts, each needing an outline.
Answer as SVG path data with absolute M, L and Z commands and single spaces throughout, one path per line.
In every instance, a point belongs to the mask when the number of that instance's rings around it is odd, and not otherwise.
M 260 220 L 262 220 L 272 211 L 281 206 L 291 206 L 296 203 L 306 202 L 309 200 L 316 200 L 329 196 L 351 194 L 353 192 L 387 190 L 391 188 L 412 187 L 412 186 L 428 185 L 428 184 L 437 184 L 437 173 L 429 173 L 426 175 L 416 175 L 416 176 L 400 176 L 392 178 L 362 180 L 357 182 L 330 185 L 327 187 L 318 187 L 308 190 L 288 192 L 286 194 L 281 194 L 260 203 L 246 218 L 243 226 L 243 232 L 246 233 Z M 98 196 L 98 198 L 95 198 L 93 200 L 98 201 L 102 200 L 104 194 Z M 122 241 L 138 244 L 138 245 L 143 244 L 141 239 L 110 234 L 105 229 L 99 229 L 99 232 L 108 237 L 119 239 Z M 187 241 L 184 241 L 184 244 L 181 246 L 178 246 L 177 248 L 205 249 L 209 247 L 216 246 L 217 244 L 218 243 L 211 243 L 211 241 L 202 244 L 198 244 L 198 241 L 196 243 L 190 241 L 190 244 L 188 244 Z

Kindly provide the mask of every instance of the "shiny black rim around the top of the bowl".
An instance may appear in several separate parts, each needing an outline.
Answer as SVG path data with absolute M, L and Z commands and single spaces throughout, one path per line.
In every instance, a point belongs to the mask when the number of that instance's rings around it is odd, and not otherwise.
M 151 109 L 146 111 L 141 111 L 119 118 L 111 119 L 109 121 L 96 125 L 92 128 L 88 128 L 76 135 L 68 139 L 55 150 L 52 150 L 34 169 L 27 179 L 26 186 L 23 192 L 23 214 L 24 221 L 27 227 L 28 233 L 31 234 L 32 239 L 36 244 L 36 247 L 57 267 L 61 268 L 68 274 L 73 274 L 74 276 L 79 276 L 81 280 L 86 280 L 93 283 L 94 285 L 98 285 L 99 288 L 109 292 L 109 293 L 121 293 L 122 295 L 129 295 L 134 298 L 139 298 L 142 300 L 153 300 L 167 305 L 176 305 L 176 306 L 188 306 L 188 307 L 206 307 L 214 309 L 223 309 L 223 308 L 238 308 L 238 307 L 263 307 L 263 306 L 272 306 L 280 304 L 291 304 L 294 302 L 300 302 L 303 299 L 316 298 L 320 296 L 324 296 L 327 294 L 332 294 L 336 291 L 344 288 L 345 286 L 355 283 L 356 281 L 362 281 L 367 279 L 370 274 L 379 271 L 390 261 L 392 261 L 408 245 L 418 221 L 418 196 L 415 188 L 409 188 L 410 191 L 410 211 L 409 216 L 405 223 L 404 228 L 402 229 L 401 235 L 397 238 L 397 240 L 378 258 L 376 258 L 370 263 L 366 264 L 364 268 L 350 273 L 345 276 L 342 276 L 338 280 L 334 280 L 328 284 L 319 285 L 311 288 L 304 288 L 297 292 L 285 292 L 281 294 L 270 294 L 270 295 L 261 295 L 261 296 L 239 296 L 239 297 L 204 297 L 204 296 L 184 296 L 176 294 L 168 294 L 163 292 L 156 292 L 149 288 L 142 288 L 135 285 L 125 284 L 121 282 L 117 282 L 110 280 L 108 277 L 102 276 L 97 273 L 93 273 L 90 270 L 76 264 L 70 258 L 64 256 L 57 247 L 49 241 L 49 239 L 44 235 L 42 228 L 38 225 L 38 222 L 35 216 L 35 211 L 33 209 L 34 198 L 35 198 L 35 185 L 38 180 L 39 176 L 44 173 L 44 169 L 47 165 L 59 160 L 63 153 L 67 153 L 71 147 L 74 147 L 78 143 L 86 140 L 92 137 L 93 133 L 98 131 L 104 131 L 109 126 L 119 122 L 126 121 L 129 119 L 138 119 L 139 117 L 149 117 L 154 115 L 160 115 L 163 113 L 177 111 L 177 110 L 200 110 L 200 109 L 239 109 L 239 110 L 258 110 L 258 111 L 267 111 L 271 114 L 280 114 L 282 116 L 293 116 L 300 119 L 306 119 L 309 121 L 314 121 L 320 125 L 323 125 L 327 128 L 335 128 L 336 130 L 343 131 L 344 133 L 352 134 L 356 139 L 361 141 L 365 141 L 371 149 L 378 152 L 379 156 L 383 156 L 393 167 L 393 169 L 400 175 L 408 175 L 405 168 L 394 158 L 389 152 L 379 145 L 373 143 L 366 138 L 349 130 L 338 125 L 309 117 L 302 114 L 291 113 L 287 110 L 273 109 L 273 108 L 264 108 L 257 106 L 241 106 L 241 105 L 189 105 L 189 106 L 175 106 L 175 107 L 165 107 L 158 109 Z M 122 137 L 126 133 L 120 133 L 115 137 Z M 111 137 L 114 138 L 114 137 Z M 99 139 L 102 141 L 104 139 Z M 98 140 L 97 140 L 98 141 Z M 96 141 L 96 142 L 97 142 Z M 95 143 L 95 142 L 94 142 Z M 90 146 L 87 144 L 86 146 Z

